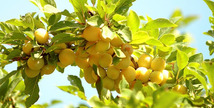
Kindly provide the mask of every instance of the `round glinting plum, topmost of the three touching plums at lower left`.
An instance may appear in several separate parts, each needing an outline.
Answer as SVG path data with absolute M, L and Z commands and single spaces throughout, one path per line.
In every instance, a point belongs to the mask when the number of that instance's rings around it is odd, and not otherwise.
M 44 66 L 44 59 L 43 58 L 33 58 L 30 57 L 27 60 L 27 65 L 31 70 L 40 70 Z

